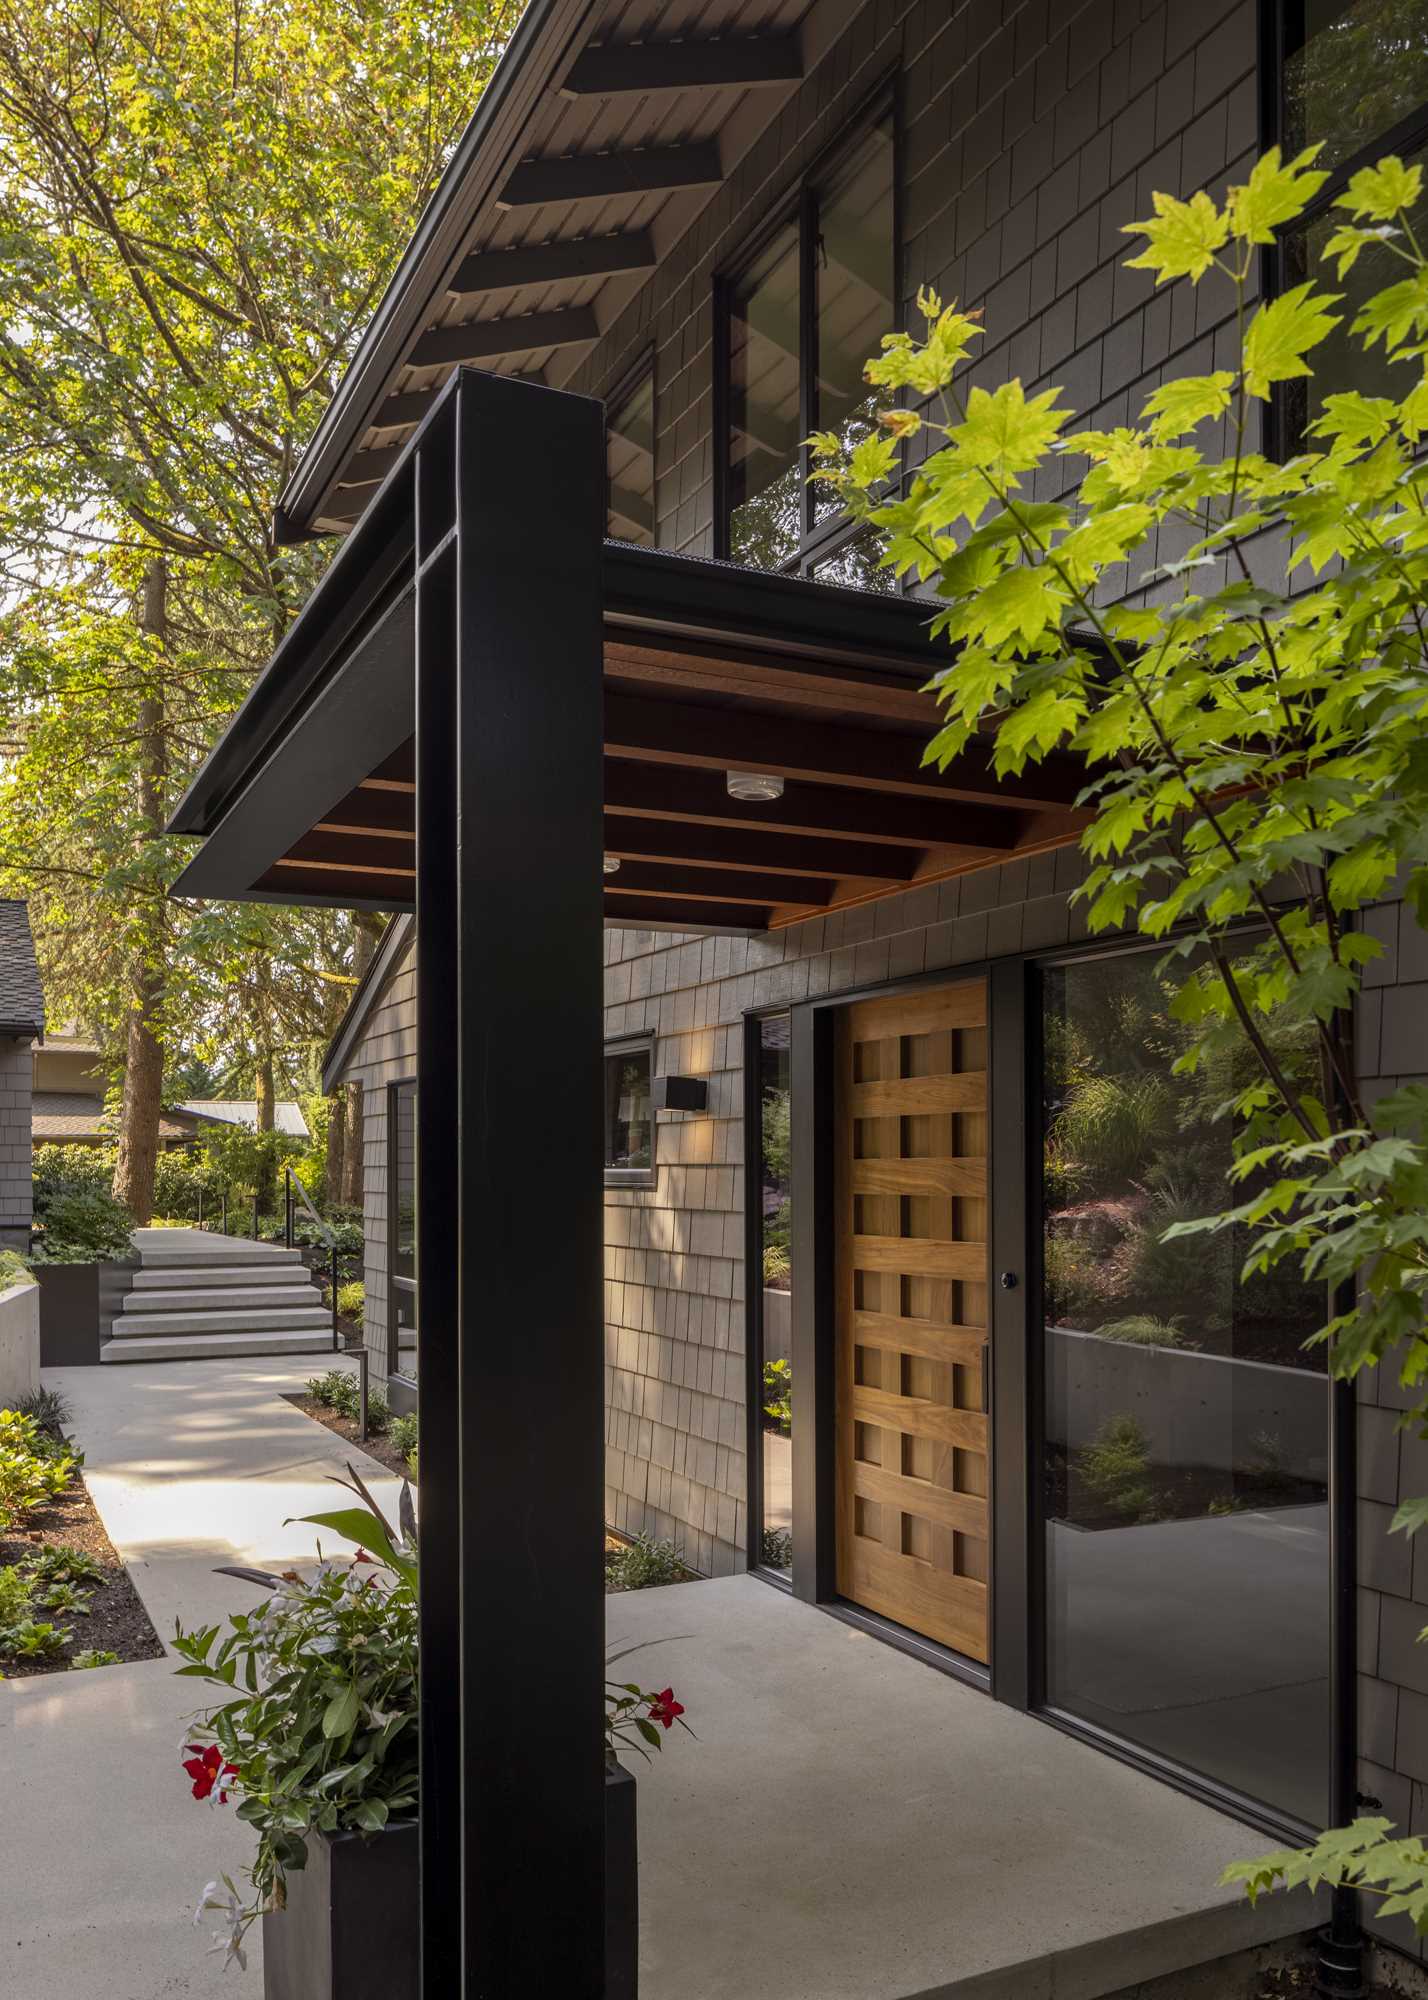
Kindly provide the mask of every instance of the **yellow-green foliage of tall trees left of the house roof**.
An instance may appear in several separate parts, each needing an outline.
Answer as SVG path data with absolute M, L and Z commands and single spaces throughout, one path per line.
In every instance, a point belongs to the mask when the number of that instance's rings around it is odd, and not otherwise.
M 262 1096 L 340 1010 L 308 982 L 294 1030 L 268 968 L 342 980 L 350 922 L 178 910 L 162 826 L 318 574 L 276 496 L 516 14 L 0 0 L 0 878 L 140 1220 L 166 1056 L 242 1012 Z

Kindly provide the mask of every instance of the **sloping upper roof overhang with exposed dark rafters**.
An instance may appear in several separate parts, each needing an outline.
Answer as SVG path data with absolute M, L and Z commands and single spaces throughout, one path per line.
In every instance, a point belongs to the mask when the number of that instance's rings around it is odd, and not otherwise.
M 530 0 L 278 502 L 342 532 L 460 364 L 560 388 L 860 0 Z

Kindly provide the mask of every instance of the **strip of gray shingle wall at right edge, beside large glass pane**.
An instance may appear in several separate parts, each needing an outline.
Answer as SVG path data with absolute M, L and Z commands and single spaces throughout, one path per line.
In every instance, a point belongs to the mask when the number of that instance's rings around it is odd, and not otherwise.
M 1398 900 L 1368 912 L 1366 930 L 1384 946 L 1364 976 L 1358 1068 L 1368 1098 L 1398 1084 L 1428 1082 L 1428 932 Z M 1402 1390 L 1392 1368 L 1358 1384 L 1358 1564 L 1362 1790 L 1382 1800 L 1400 1832 L 1428 1832 L 1428 1532 L 1388 1534 L 1400 1500 L 1428 1494 L 1428 1442 L 1400 1430 L 1420 1392 Z M 1422 1940 L 1402 1920 L 1388 1926 L 1414 1954 Z

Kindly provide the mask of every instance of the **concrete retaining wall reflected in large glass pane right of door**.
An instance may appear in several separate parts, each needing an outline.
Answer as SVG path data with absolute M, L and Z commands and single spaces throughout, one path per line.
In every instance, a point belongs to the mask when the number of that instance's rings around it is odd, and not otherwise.
M 1150 1458 L 1216 1472 L 1264 1462 L 1288 1474 L 1328 1476 L 1328 1390 L 1324 1376 L 1270 1362 L 1140 1348 L 1054 1326 L 1046 1366 L 1048 1436 L 1080 1450 L 1108 1416 L 1134 1416 Z

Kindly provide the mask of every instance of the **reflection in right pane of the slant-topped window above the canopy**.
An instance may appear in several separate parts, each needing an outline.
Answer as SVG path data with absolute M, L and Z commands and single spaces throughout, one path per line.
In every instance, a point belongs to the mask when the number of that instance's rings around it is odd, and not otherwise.
M 844 458 L 876 430 L 888 390 L 870 390 L 864 362 L 892 332 L 892 116 L 878 120 L 838 178 L 818 196 L 818 390 L 814 428 L 834 430 Z M 842 512 L 834 486 L 814 486 L 814 520 Z M 880 588 L 868 578 L 848 578 Z

